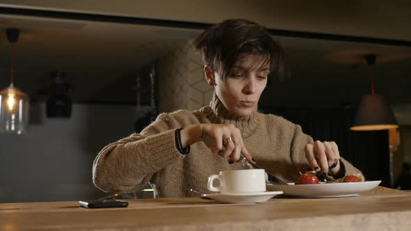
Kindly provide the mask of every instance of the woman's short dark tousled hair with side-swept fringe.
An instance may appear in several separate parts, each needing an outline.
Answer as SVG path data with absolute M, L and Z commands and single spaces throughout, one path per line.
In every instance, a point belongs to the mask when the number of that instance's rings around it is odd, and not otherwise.
M 265 56 L 270 72 L 284 74 L 284 48 L 275 41 L 265 27 L 247 19 L 227 19 L 203 31 L 195 40 L 194 48 L 201 52 L 203 62 L 218 70 L 226 79 L 240 54 Z

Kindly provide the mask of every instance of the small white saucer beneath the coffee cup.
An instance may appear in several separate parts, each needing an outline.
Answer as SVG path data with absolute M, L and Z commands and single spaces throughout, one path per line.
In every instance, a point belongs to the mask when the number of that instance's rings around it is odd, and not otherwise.
M 216 200 L 223 203 L 262 203 L 273 196 L 282 194 L 282 191 L 265 191 L 261 193 L 210 193 L 203 194 L 201 198 Z

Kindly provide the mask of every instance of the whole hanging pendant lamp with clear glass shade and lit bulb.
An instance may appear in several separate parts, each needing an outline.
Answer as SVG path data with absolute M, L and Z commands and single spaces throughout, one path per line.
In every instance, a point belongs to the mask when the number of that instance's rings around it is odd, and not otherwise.
M 29 124 L 29 96 L 14 86 L 14 50 L 19 38 L 18 29 L 6 29 L 11 45 L 10 86 L 0 91 L 0 132 L 24 134 Z

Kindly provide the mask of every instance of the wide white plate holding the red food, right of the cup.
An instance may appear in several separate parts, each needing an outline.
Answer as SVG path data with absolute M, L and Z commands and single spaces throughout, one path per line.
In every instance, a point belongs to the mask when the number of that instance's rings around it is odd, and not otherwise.
M 284 191 L 284 195 L 302 198 L 336 198 L 357 196 L 359 193 L 374 189 L 380 180 L 370 182 L 267 185 L 267 191 Z

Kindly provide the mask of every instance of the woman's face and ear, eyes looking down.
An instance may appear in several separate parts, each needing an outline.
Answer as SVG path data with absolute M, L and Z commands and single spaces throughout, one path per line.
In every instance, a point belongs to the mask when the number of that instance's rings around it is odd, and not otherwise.
M 256 110 L 267 86 L 269 68 L 265 56 L 245 54 L 239 56 L 225 81 L 214 72 L 215 92 L 226 109 L 238 117 L 249 116 Z

